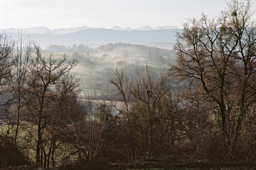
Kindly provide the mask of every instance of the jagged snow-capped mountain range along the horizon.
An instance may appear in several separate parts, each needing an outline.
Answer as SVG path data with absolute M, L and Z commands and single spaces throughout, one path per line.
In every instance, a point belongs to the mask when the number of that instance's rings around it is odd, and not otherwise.
M 106 29 L 104 27 L 87 27 L 87 26 L 82 26 L 82 27 L 76 27 L 76 28 L 68 28 L 68 29 L 49 29 L 47 27 L 30 27 L 30 28 L 24 28 L 24 29 L 19 29 L 19 28 L 8 28 L 8 29 L 0 29 L 0 32 L 11 32 L 17 34 L 18 32 L 22 31 L 24 34 L 52 34 L 52 35 L 63 35 L 63 34 L 70 34 L 74 33 L 77 31 L 82 31 L 84 29 Z M 152 31 L 152 30 L 163 30 L 163 29 L 179 29 L 179 27 L 176 26 L 163 26 L 163 27 L 149 27 L 149 26 L 144 26 L 144 27 L 138 27 L 138 28 L 131 28 L 131 27 L 118 27 L 114 26 L 109 28 L 111 30 L 116 30 L 116 31 L 134 31 L 134 30 L 139 30 L 139 31 Z

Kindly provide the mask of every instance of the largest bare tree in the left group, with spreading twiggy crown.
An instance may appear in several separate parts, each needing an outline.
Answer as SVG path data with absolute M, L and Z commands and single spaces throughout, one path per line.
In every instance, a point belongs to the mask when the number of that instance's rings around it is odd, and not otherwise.
M 35 46 L 36 59 L 32 60 L 33 69 L 28 78 L 29 97 L 27 99 L 27 109 L 33 117 L 37 126 L 36 138 L 36 164 L 43 165 L 44 160 L 44 131 L 51 122 L 50 108 L 54 107 L 58 100 L 56 85 L 60 84 L 61 78 L 65 76 L 76 62 L 67 62 L 67 55 L 62 59 L 56 60 L 50 57 L 44 58 L 40 52 L 39 46 Z

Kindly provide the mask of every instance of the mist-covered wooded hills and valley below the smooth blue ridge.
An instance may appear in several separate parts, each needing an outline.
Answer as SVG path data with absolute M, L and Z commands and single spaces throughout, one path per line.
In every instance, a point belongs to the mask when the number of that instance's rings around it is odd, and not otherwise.
M 74 69 L 80 78 L 80 89 L 86 94 L 93 93 L 98 99 L 109 99 L 109 79 L 115 76 L 115 69 L 124 67 L 129 74 L 136 74 L 136 68 L 148 64 L 152 71 L 161 74 L 175 63 L 175 54 L 171 50 L 153 46 L 134 45 L 129 43 L 108 43 L 97 48 L 86 45 L 49 45 L 42 55 L 53 53 L 60 57 L 64 52 L 75 59 Z M 111 96 L 109 96 L 111 95 Z

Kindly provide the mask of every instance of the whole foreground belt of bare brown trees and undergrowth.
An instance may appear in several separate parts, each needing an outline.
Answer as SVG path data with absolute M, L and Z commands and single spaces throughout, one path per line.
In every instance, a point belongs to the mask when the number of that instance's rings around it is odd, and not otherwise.
M 132 74 L 117 68 L 109 82 L 118 102 L 81 99 L 76 60 L 43 57 L 29 38 L 1 34 L 0 167 L 255 162 L 251 8 L 232 0 L 218 18 L 188 20 L 177 33 L 177 64 L 161 74 L 147 64 Z

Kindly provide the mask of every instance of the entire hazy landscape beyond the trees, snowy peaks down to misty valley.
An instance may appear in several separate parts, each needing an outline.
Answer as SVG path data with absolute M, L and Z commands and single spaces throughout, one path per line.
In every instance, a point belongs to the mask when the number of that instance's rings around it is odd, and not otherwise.
M 19 34 L 29 36 L 42 48 L 45 57 L 61 57 L 66 53 L 75 59 L 73 72 L 80 78 L 81 95 L 90 94 L 100 99 L 114 99 L 115 92 L 109 80 L 115 69 L 124 67 L 134 74 L 148 64 L 154 72 L 161 74 L 175 62 L 172 46 L 175 34 L 181 32 L 175 26 L 106 28 L 76 27 L 70 29 L 0 29 L 14 38 Z

